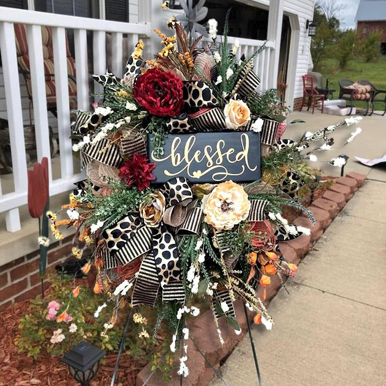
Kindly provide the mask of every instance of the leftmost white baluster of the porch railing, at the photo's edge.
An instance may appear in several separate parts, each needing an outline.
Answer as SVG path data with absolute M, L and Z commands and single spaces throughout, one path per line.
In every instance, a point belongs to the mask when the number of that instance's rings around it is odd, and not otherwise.
M 1 60 L 4 76 L 4 90 L 7 106 L 14 186 L 15 192 L 21 193 L 27 190 L 27 161 L 25 157 L 23 115 L 21 110 L 15 30 L 12 23 L 0 23 L 0 50 L 1 53 L 3 53 L 1 55 Z M 16 232 L 20 230 L 18 208 L 13 208 L 6 212 L 5 223 L 9 232 Z

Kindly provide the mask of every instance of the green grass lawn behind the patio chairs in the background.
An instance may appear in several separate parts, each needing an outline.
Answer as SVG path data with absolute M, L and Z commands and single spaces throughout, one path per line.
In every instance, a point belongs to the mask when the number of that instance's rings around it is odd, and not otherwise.
M 327 59 L 322 62 L 316 70 L 323 75 L 323 87 L 326 86 L 326 79 L 330 78 L 330 88 L 336 90 L 333 98 L 339 96 L 339 79 L 346 78 L 352 81 L 368 80 L 376 88 L 386 90 L 386 55 L 382 55 L 377 62 L 365 63 L 362 59 L 353 59 L 350 61 L 347 69 L 339 70 L 335 59 Z M 380 95 L 384 97 L 384 94 Z M 365 107 L 366 103 L 356 102 L 354 105 Z M 371 107 L 370 107 L 371 108 Z M 376 103 L 376 110 L 384 110 L 385 104 Z

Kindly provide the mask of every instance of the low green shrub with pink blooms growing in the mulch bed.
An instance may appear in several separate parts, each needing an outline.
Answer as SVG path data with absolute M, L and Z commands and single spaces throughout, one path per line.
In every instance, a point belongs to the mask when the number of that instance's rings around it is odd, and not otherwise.
M 15 339 L 18 352 L 27 353 L 27 356 L 34 359 L 40 353 L 45 352 L 51 356 L 61 356 L 82 340 L 106 351 L 118 351 L 128 310 L 120 310 L 118 314 L 120 321 L 104 333 L 104 325 L 110 320 L 113 304 L 108 302 L 107 307 L 101 311 L 100 316 L 95 318 L 94 312 L 98 306 L 106 301 L 107 296 L 105 294 L 94 294 L 85 285 L 80 287 L 79 295 L 73 298 L 70 297 L 72 288 L 73 280 L 54 276 L 51 279 L 49 295 L 46 295 L 44 299 L 38 295 L 31 300 L 27 314 L 20 317 L 19 333 Z M 72 317 L 72 320 L 60 323 L 56 319 L 47 320 L 49 302 L 56 301 L 59 303 L 60 308 L 57 310 L 57 315 L 60 315 L 67 307 L 69 297 L 71 300 L 68 314 Z M 156 308 L 146 310 L 149 325 L 155 322 L 156 312 Z M 161 353 L 166 352 L 169 347 L 171 334 L 161 326 L 158 333 L 164 339 L 153 341 L 151 336 L 153 328 L 149 325 L 132 322 L 125 341 L 125 349 L 132 358 L 143 363 L 143 365 L 152 362 L 153 367 L 158 367 L 164 379 L 167 380 L 173 365 L 173 357 L 168 354 L 166 361 L 162 363 L 160 357 Z M 76 326 L 76 329 L 74 326 Z M 61 331 L 58 332 L 58 329 Z M 143 332 L 143 330 L 147 330 L 150 337 L 140 337 L 140 332 Z M 56 335 L 61 335 L 56 343 L 51 341 L 54 332 L 56 332 Z M 55 341 L 55 338 L 53 341 Z

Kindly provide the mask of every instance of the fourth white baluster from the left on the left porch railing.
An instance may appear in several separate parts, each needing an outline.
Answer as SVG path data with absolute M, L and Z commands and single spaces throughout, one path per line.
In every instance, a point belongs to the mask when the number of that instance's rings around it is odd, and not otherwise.
M 90 108 L 88 91 L 87 32 L 74 30 L 76 98 L 79 110 Z

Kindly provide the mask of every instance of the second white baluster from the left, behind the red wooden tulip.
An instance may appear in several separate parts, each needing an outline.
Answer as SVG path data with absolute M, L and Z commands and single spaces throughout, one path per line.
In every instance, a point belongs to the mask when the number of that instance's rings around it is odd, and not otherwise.
M 27 25 L 28 54 L 30 57 L 32 100 L 37 160 L 48 158 L 49 179 L 52 181 L 50 136 L 48 132 L 46 82 L 43 65 L 43 46 L 40 25 Z

